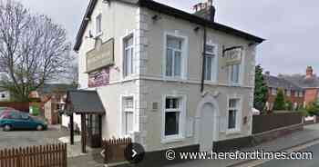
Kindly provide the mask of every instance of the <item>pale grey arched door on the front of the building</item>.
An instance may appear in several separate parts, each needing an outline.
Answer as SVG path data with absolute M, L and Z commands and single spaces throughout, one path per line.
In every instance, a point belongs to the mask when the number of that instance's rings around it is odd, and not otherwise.
M 201 110 L 200 149 L 201 152 L 211 152 L 214 131 L 214 108 L 211 103 L 205 103 Z

